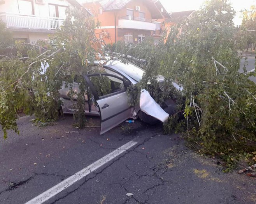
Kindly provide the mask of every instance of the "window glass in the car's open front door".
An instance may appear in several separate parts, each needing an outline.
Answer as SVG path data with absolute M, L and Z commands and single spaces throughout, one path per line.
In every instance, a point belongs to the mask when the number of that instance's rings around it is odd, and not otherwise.
M 125 90 L 123 81 L 114 76 L 96 75 L 90 76 L 89 80 L 99 97 Z

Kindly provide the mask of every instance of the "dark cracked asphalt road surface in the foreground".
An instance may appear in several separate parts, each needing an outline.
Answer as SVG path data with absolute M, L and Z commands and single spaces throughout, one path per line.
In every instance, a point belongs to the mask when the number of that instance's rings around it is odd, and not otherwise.
M 69 115 L 46 127 L 32 126 L 30 119 L 18 120 L 20 135 L 10 131 L 4 140 L 0 132 L 1 204 L 30 201 L 131 140 L 137 145 L 45 203 L 256 203 L 255 178 L 223 173 L 179 135 L 163 135 L 161 125 L 136 120 L 100 135 L 100 128 L 74 128 Z M 88 124 L 99 126 L 99 119 L 88 118 Z

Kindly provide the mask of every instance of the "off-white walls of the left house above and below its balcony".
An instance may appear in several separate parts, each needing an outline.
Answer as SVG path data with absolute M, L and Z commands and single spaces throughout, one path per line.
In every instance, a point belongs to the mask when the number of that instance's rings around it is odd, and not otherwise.
M 5 3 L 0 4 L 0 12 L 19 14 L 18 0 L 5 0 Z M 44 0 L 44 4 L 35 3 L 32 0 L 35 16 L 49 17 L 49 3 L 62 6 L 70 6 L 66 0 Z M 22 30 L 12 31 L 13 38 L 26 38 L 28 42 L 35 42 L 37 40 L 49 39 L 49 33 L 40 33 Z

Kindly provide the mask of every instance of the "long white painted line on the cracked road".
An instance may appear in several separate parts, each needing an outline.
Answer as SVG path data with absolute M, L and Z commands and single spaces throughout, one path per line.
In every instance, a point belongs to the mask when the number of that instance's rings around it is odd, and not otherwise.
M 37 197 L 33 198 L 32 200 L 26 202 L 25 204 L 42 204 L 43 202 L 49 200 L 54 195 L 59 194 L 61 191 L 65 190 L 67 187 L 70 187 L 75 182 L 81 180 L 85 176 L 87 176 L 89 173 L 95 171 L 96 169 L 100 168 L 104 164 L 108 163 L 110 160 L 114 159 L 115 157 L 119 156 L 126 150 L 130 149 L 134 145 L 136 145 L 137 142 L 130 141 L 126 143 L 125 145 L 119 147 L 118 149 L 114 150 L 113 152 L 110 152 L 106 156 L 102 157 L 95 163 L 87 166 L 86 168 L 82 169 L 81 171 L 78 171 L 74 175 L 68 177 L 67 179 L 63 180 L 62 182 L 58 183 L 54 187 L 50 188 L 49 190 L 46 190 L 42 194 L 38 195 Z

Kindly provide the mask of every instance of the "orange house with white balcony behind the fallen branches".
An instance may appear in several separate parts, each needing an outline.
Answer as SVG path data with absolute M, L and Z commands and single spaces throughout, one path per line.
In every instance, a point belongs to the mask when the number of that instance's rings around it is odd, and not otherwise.
M 106 44 L 159 38 L 162 23 L 154 19 L 169 16 L 159 0 L 87 0 L 83 5 L 100 22 L 95 34 Z

